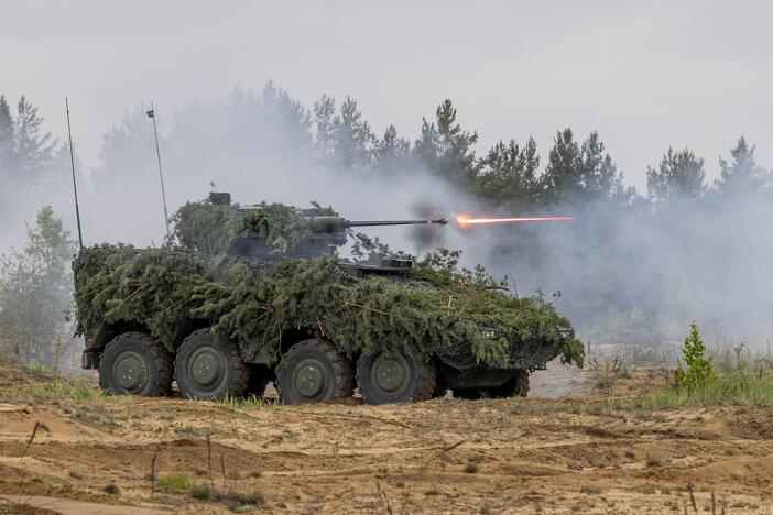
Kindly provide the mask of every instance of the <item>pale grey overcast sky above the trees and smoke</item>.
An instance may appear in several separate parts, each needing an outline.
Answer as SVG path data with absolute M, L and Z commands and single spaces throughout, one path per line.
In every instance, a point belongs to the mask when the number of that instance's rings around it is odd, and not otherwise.
M 717 173 L 741 134 L 773 166 L 773 4 L 765 1 L 37 1 L 0 10 L 0 94 L 40 106 L 99 163 L 123 110 L 160 117 L 273 79 L 311 107 L 355 97 L 414 139 L 444 98 L 482 152 L 598 130 L 629 184 L 668 145 Z

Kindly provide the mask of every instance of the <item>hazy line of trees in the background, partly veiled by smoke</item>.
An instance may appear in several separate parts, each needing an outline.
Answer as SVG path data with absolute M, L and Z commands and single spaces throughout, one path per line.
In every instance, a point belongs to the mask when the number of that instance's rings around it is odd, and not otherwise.
M 580 222 L 570 228 L 509 227 L 480 233 L 490 237 L 485 258 L 496 271 L 514 275 L 523 292 L 559 293 L 562 309 L 588 327 L 621 317 L 633 320 L 629 326 L 646 320 L 649 326 L 662 327 L 657 319 L 663 313 L 677 313 L 693 302 L 697 303 L 690 306 L 693 313 L 720 311 L 721 303 L 711 304 L 711 298 L 707 304 L 709 296 L 703 289 L 707 271 L 715 271 L 738 243 L 721 238 L 731 229 L 720 220 L 733 210 L 773 199 L 771 172 L 758 165 L 755 146 L 742 136 L 719 161 L 720 174 L 712 183 L 706 178 L 705 161 L 692 150 L 665 150 L 646 168 L 642 194 L 625 185 L 597 132 L 580 138 L 571 129 L 562 129 L 544 154 L 533 138 L 499 141 L 481 152 L 478 132 L 462 125 L 450 100 L 421 120 L 415 139 L 401 135 L 394 125 L 377 133 L 350 97 L 338 102 L 325 95 L 306 108 L 273 84 L 259 92 L 233 90 L 209 103 L 195 102 L 168 118 L 173 121 L 164 127 L 162 149 L 170 182 L 177 184 L 194 178 L 200 184 L 207 173 L 261 180 L 266 167 L 277 175 L 324 171 L 350 183 L 398 184 L 425 174 L 492 212 L 577 215 Z M 14 113 L 0 96 L 0 215 L 4 218 L 11 212 L 14 191 L 36 188 L 68 169 L 66 147 L 44 127 L 37 108 L 26 98 L 19 100 Z M 100 164 L 91 174 L 96 193 L 126 197 L 127 182 L 137 180 L 137 171 L 153 163 L 150 143 L 143 107 L 127 110 L 104 138 Z M 111 196 L 111 188 L 120 195 Z M 711 223 L 694 223 L 703 219 Z M 753 224 L 751 218 L 741 217 L 740 222 L 745 228 Z M 727 232 L 718 238 L 720 229 Z M 740 243 L 743 248 L 749 242 Z M 7 341 L 9 327 L 26 324 L 18 313 L 21 298 L 40 298 L 40 305 L 25 305 L 30 313 L 63 319 L 61 311 L 69 302 L 72 252 L 61 219 L 44 209 L 37 226 L 30 229 L 28 245 L 3 254 L 0 327 Z M 668 260 L 676 265 L 662 266 L 661 261 Z M 701 266 L 694 266 L 692 260 Z M 747 262 L 740 263 L 738 269 Z M 53 281 L 54 275 L 63 280 Z M 716 278 L 721 287 L 755 287 L 743 282 L 741 270 L 723 275 Z M 55 302 L 45 297 L 45 284 L 51 285 Z M 760 296 L 767 299 L 765 294 Z M 739 314 L 744 307 L 738 307 Z M 39 326 L 43 332 L 53 327 Z M 635 332 L 636 327 L 622 331 Z M 41 349 L 51 342 L 50 336 L 14 331 L 39 341 Z

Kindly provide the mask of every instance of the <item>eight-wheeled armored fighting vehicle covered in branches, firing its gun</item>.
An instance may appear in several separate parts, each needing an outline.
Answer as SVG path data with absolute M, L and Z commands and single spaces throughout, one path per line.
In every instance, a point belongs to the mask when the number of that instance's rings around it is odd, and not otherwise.
M 458 253 L 421 261 L 353 228 L 445 220 L 349 221 L 331 208 L 188 202 L 161 248 L 101 244 L 73 263 L 84 369 L 110 394 L 261 395 L 287 404 L 359 391 L 368 404 L 444 395 L 526 395 L 531 371 L 581 364 L 571 327 L 541 296 L 518 297 Z

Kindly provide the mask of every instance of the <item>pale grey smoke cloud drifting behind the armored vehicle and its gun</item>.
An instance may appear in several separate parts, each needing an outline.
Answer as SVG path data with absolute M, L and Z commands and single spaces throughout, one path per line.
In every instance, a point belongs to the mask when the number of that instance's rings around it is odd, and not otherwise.
M 105 136 L 100 166 L 78 177 L 87 244 L 163 242 L 159 169 L 145 106 L 126 111 Z M 316 200 L 349 219 L 414 218 L 418 211 L 448 218 L 459 212 L 575 215 L 575 221 L 560 223 L 449 224 L 433 228 L 442 232 L 431 239 L 404 228 L 368 232 L 412 254 L 432 251 L 429 245 L 460 249 L 464 265 L 482 263 L 494 275 L 510 275 L 519 295 L 555 294 L 559 310 L 595 341 L 674 340 L 693 319 L 715 341 L 764 346 L 773 333 L 773 280 L 766 273 L 773 255 L 766 226 L 773 219 L 770 195 L 749 191 L 710 207 L 709 200 L 674 202 L 665 218 L 653 216 L 641 199 L 624 216 L 606 199 L 575 205 L 571 212 L 566 206 L 525 212 L 516 205 L 486 205 L 415 162 L 374 175 L 352 173 L 352 166 L 342 169 L 319 155 L 312 111 L 272 87 L 262 94 L 235 90 L 157 116 L 170 213 L 187 200 L 222 190 L 240 204 L 306 207 Z M 21 221 L 32 220 L 45 204 L 74 228 L 70 187 L 69 177 L 59 174 L 22 195 L 14 216 L 4 220 L 0 243 L 20 241 Z

